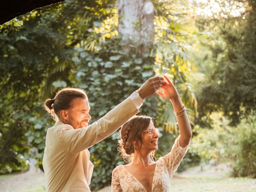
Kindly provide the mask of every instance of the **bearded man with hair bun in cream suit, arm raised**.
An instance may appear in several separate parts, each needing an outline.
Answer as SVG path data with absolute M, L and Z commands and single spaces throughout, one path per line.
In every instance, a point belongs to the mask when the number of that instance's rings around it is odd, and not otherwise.
M 90 192 L 93 164 L 88 148 L 100 142 L 139 112 L 143 100 L 163 85 L 163 78 L 148 79 L 138 91 L 97 122 L 91 119 L 82 89 L 64 88 L 44 102 L 56 123 L 47 130 L 43 167 L 46 192 Z

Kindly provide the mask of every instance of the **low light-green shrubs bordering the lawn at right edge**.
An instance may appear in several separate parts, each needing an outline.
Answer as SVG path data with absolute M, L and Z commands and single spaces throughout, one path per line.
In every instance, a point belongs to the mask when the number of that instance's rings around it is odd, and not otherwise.
M 237 127 L 228 126 L 230 123 L 223 114 L 212 113 L 213 126 L 200 128 L 195 126 L 198 134 L 192 138 L 190 152 L 208 163 L 231 162 L 233 176 L 250 176 L 256 178 L 256 114 L 251 113 Z

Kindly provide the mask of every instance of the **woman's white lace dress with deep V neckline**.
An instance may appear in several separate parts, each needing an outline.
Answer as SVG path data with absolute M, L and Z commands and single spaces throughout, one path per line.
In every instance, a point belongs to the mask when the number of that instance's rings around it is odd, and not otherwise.
M 189 146 L 182 148 L 178 138 L 175 140 L 171 152 L 156 161 L 152 192 L 170 192 L 170 180 Z M 120 165 L 112 172 L 111 192 L 146 192 L 146 189 L 123 165 Z

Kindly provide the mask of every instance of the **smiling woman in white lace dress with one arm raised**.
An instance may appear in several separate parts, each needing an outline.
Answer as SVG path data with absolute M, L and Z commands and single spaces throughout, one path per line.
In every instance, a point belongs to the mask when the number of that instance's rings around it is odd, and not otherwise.
M 152 157 L 158 149 L 159 130 L 154 128 L 148 116 L 132 117 L 122 126 L 119 140 L 121 155 L 130 163 L 113 170 L 112 192 L 170 191 L 170 179 L 188 150 L 192 130 L 176 88 L 166 76 L 164 78 L 163 92 L 157 93 L 172 102 L 180 136 L 175 140 L 171 152 L 155 162 Z

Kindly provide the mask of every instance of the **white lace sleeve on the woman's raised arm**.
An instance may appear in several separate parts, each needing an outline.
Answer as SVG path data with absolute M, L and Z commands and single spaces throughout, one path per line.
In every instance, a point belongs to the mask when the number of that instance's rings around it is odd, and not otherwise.
M 172 178 L 178 166 L 180 165 L 180 162 L 188 151 L 189 144 L 186 147 L 182 148 L 179 144 L 179 138 L 180 136 L 178 136 L 178 138 L 175 140 L 171 152 L 162 158 L 168 168 L 170 178 Z

